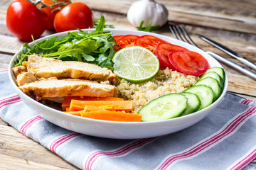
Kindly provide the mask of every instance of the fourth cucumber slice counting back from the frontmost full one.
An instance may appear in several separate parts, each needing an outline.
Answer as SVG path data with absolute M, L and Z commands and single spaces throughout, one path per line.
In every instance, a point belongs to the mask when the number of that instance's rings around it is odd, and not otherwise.
M 209 86 L 211 89 L 213 89 L 213 101 L 217 100 L 217 98 L 220 96 L 220 85 L 218 84 L 218 81 L 216 79 L 206 77 L 204 79 L 197 81 L 196 84 L 194 84 L 194 86 L 197 86 L 199 84 Z

